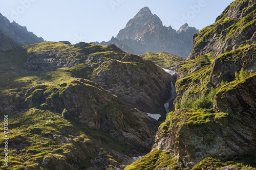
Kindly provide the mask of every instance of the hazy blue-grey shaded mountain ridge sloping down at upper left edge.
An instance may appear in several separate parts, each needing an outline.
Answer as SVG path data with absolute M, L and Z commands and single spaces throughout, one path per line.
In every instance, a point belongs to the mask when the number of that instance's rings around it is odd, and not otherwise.
M 20 46 L 33 43 L 44 42 L 42 37 L 38 38 L 32 32 L 29 32 L 26 27 L 19 26 L 16 22 L 10 22 L 5 16 L 0 13 L 0 32 L 10 37 Z

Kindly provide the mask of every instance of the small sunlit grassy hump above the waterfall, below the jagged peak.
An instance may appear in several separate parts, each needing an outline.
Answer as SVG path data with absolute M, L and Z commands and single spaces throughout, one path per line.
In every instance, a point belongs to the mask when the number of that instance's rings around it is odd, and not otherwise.
M 179 64 L 180 62 L 185 60 L 180 56 L 176 56 L 174 54 L 169 54 L 166 52 L 161 52 L 161 53 L 147 52 L 140 56 L 146 59 L 152 60 L 155 64 L 157 64 L 160 67 L 170 67 L 175 64 Z

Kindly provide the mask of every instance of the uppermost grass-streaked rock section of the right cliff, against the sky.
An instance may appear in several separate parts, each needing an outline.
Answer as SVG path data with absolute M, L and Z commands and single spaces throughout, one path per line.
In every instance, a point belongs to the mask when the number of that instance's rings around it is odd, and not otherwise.
M 212 53 L 214 57 L 230 52 L 240 45 L 256 42 L 255 1 L 234 1 L 216 22 L 194 36 L 193 51 L 188 59 Z

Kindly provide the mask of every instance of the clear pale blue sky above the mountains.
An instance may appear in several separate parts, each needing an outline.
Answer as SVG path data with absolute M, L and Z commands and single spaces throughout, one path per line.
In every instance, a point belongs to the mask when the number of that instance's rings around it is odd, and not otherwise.
M 215 22 L 233 0 L 0 0 L 0 13 L 47 41 L 108 41 L 141 8 L 149 7 L 163 25 L 184 22 L 202 28 Z

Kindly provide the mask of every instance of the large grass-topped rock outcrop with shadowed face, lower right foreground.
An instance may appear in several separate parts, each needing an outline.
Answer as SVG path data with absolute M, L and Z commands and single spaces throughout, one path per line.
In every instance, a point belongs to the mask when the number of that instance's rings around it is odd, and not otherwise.
M 253 153 L 256 145 L 255 115 L 242 114 L 176 110 L 170 118 L 168 133 L 164 138 L 156 138 L 155 148 L 170 151 L 189 168 L 207 157 Z M 249 124 L 244 122 L 247 119 Z M 158 134 L 161 132 L 159 130 Z

